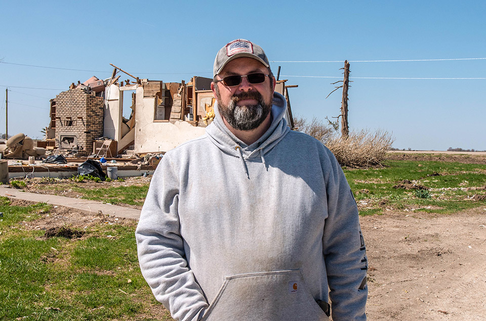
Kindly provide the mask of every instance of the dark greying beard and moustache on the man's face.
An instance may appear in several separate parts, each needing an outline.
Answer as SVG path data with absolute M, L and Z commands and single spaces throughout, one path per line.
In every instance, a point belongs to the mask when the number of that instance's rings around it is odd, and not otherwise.
M 218 98 L 218 107 L 221 115 L 226 119 L 229 125 L 236 130 L 249 131 L 258 128 L 268 113 L 272 109 L 272 104 L 266 104 L 259 92 L 243 92 L 231 97 L 228 105 L 221 103 L 219 91 L 216 91 Z M 244 99 L 255 99 L 258 101 L 255 105 L 238 106 L 237 103 Z

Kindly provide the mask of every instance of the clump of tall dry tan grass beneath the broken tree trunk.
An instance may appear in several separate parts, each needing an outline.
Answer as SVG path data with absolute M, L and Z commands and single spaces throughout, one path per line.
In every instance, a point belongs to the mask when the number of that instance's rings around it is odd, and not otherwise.
M 391 147 L 393 138 L 386 131 L 361 130 L 349 133 L 347 139 L 337 134 L 326 141 L 341 166 L 368 168 L 380 165 Z

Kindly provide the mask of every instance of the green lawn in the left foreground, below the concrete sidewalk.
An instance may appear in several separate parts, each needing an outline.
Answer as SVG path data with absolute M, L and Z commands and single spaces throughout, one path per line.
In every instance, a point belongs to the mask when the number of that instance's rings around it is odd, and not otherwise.
M 47 238 L 25 224 L 50 211 L 0 197 L 1 320 L 172 320 L 141 275 L 135 224 L 78 228 L 79 238 Z

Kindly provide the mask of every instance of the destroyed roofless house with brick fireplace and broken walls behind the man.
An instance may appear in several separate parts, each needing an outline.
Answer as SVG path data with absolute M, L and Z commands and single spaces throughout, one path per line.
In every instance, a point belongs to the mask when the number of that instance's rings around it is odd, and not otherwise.
M 203 135 L 212 122 L 211 78 L 194 76 L 188 83 L 164 83 L 129 74 L 135 81 L 118 82 L 117 69 L 104 81 L 92 77 L 72 84 L 51 100 L 46 148 L 74 151 L 77 156 L 100 155 L 103 147 L 103 155 L 109 157 L 125 151 L 165 152 Z M 285 117 L 293 128 L 287 88 L 297 86 L 285 83 L 277 81 L 275 91 L 287 99 Z M 123 116 L 128 114 L 127 106 L 131 109 L 128 118 Z

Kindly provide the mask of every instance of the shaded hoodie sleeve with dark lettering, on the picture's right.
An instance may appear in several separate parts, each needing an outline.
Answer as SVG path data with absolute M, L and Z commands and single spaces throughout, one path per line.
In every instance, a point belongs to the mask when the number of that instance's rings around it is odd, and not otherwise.
M 322 239 L 334 321 L 366 320 L 368 262 L 351 189 L 328 151 L 325 170 L 328 218 Z M 324 168 L 327 167 L 327 168 Z

